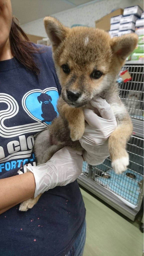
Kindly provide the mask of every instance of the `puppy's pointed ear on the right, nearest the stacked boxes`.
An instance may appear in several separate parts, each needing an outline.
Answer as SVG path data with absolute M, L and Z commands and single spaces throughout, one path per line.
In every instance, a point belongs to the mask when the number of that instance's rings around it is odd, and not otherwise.
M 135 33 L 120 37 L 114 37 L 110 40 L 110 46 L 116 56 L 124 61 L 136 48 L 138 36 Z

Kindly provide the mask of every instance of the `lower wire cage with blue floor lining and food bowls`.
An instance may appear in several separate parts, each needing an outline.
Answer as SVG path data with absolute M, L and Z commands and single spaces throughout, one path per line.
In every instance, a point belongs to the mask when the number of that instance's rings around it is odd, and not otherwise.
M 135 208 L 138 205 L 143 184 L 143 139 L 132 136 L 127 143 L 129 153 L 128 169 L 122 174 L 116 174 L 111 168 L 111 161 L 107 158 L 104 163 L 92 166 L 92 177 L 115 193 L 128 206 Z

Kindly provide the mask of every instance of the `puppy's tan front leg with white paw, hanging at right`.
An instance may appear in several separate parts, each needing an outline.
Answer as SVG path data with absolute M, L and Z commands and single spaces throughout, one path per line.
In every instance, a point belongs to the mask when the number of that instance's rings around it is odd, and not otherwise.
M 129 165 L 129 155 L 126 151 L 126 143 L 132 134 L 132 122 L 130 118 L 118 125 L 117 129 L 108 139 L 108 148 L 112 160 L 112 168 L 115 173 L 121 174 Z

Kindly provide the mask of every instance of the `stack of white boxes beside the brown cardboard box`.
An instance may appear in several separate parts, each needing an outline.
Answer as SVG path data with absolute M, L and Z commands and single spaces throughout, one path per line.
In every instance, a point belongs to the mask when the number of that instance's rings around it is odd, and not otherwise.
M 126 7 L 123 15 L 115 16 L 110 19 L 109 35 L 113 38 L 115 36 L 134 33 L 136 21 L 138 18 L 141 18 L 142 12 L 143 10 L 138 5 Z M 141 31 L 139 31 L 139 33 L 141 33 Z

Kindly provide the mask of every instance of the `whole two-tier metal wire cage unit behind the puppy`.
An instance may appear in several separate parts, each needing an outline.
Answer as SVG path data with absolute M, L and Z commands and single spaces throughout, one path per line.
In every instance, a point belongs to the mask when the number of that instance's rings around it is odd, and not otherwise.
M 134 220 L 143 200 L 143 65 L 126 63 L 132 79 L 119 83 L 120 98 L 131 115 L 134 133 L 127 143 L 128 169 L 117 175 L 110 158 L 97 166 L 83 163 L 80 185 L 107 202 L 122 214 Z

